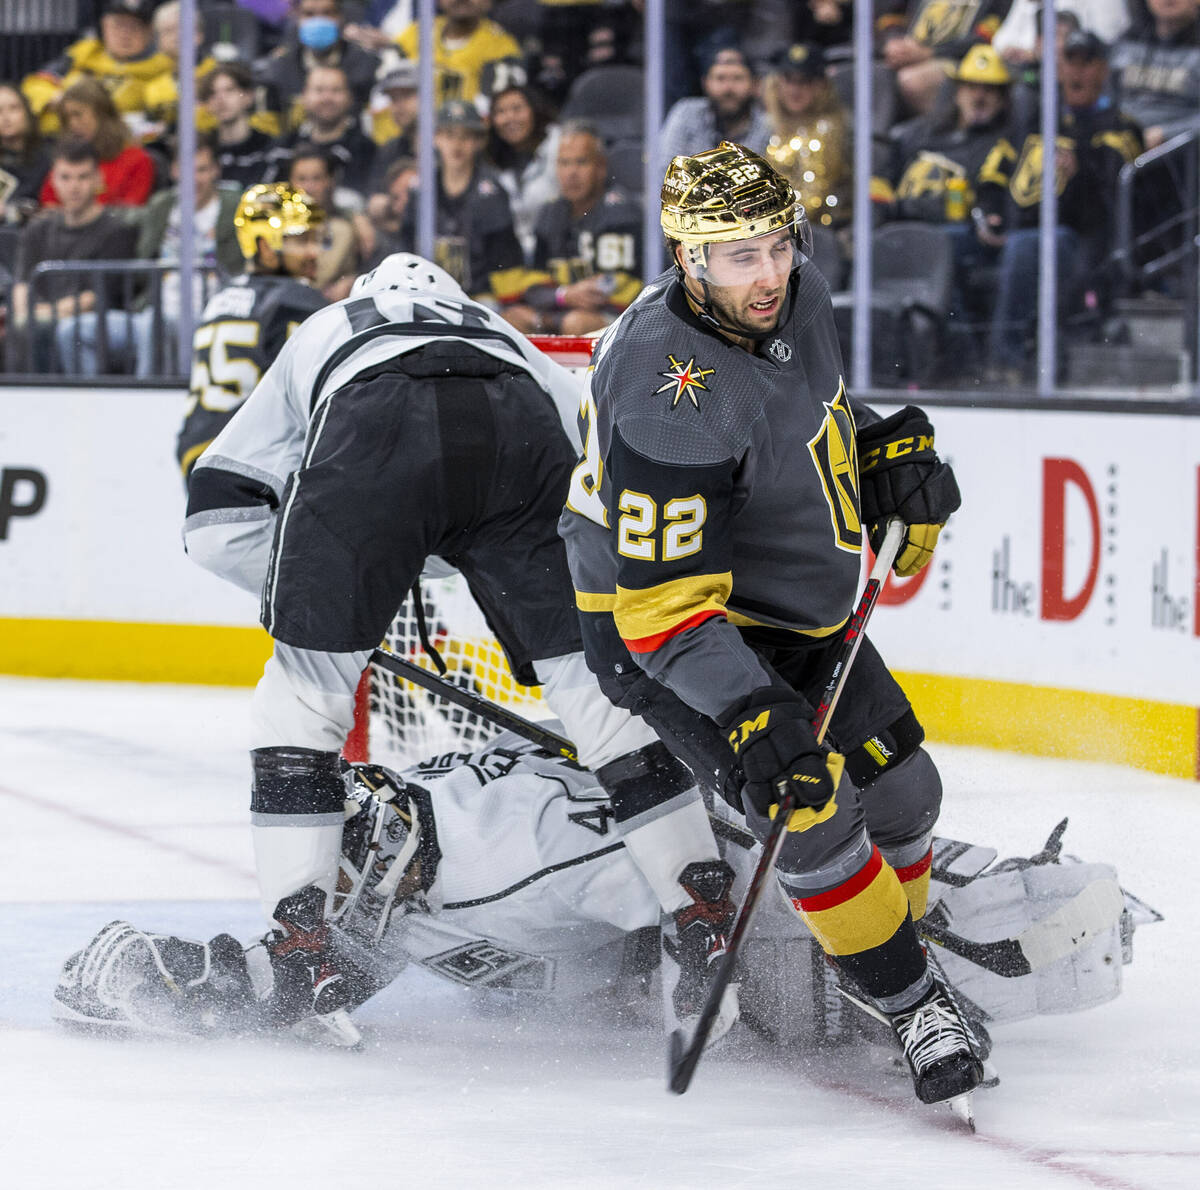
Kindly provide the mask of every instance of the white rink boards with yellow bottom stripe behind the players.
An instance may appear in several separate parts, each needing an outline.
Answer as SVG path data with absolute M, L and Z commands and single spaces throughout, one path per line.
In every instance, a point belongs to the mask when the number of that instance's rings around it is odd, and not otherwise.
M 0 389 L 0 672 L 257 680 L 256 601 L 182 551 L 184 399 Z M 930 735 L 1196 776 L 1200 420 L 931 411 L 962 509 L 871 629 Z

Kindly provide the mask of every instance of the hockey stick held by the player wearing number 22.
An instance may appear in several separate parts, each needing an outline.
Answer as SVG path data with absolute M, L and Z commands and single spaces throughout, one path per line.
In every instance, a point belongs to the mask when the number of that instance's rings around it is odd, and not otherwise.
M 817 744 L 826 737 L 829 720 L 846 685 L 850 667 L 853 665 L 854 656 L 858 654 L 858 647 L 863 642 L 863 631 L 866 627 L 866 621 L 875 609 L 880 591 L 887 581 L 888 571 L 892 569 L 892 564 L 900 552 L 900 542 L 904 540 L 904 534 L 905 525 L 901 521 L 893 519 L 888 524 L 888 531 L 883 539 L 878 557 L 875 559 L 875 565 L 871 567 L 871 573 L 866 579 L 866 587 L 863 588 L 858 607 L 854 608 L 854 614 L 851 615 L 850 621 L 842 630 L 838 657 L 834 661 L 829 680 L 826 683 L 816 715 L 812 719 L 812 729 L 816 733 Z M 704 1044 L 708 1041 L 713 1022 L 721 1010 L 725 990 L 733 981 L 733 970 L 737 964 L 742 939 L 750 925 L 750 920 L 754 918 L 755 910 L 758 908 L 758 902 L 762 900 L 762 894 L 767 887 L 768 877 L 775 866 L 775 860 L 779 859 L 779 853 L 786 836 L 785 828 L 794 809 L 794 793 L 785 794 L 775 811 L 775 819 L 770 824 L 770 830 L 763 841 L 762 855 L 758 858 L 758 864 L 750 877 L 745 900 L 742 902 L 737 920 L 730 931 L 721 966 L 714 974 L 713 982 L 709 985 L 708 996 L 704 998 L 704 1006 L 700 1010 L 700 1020 L 696 1022 L 696 1030 L 692 1033 L 691 1040 L 686 1045 L 684 1044 L 683 1029 L 676 1029 L 671 1034 L 667 1054 L 667 1087 L 677 1095 L 682 1095 L 691 1084 L 691 1076 L 696 1072 L 696 1064 L 704 1051 Z

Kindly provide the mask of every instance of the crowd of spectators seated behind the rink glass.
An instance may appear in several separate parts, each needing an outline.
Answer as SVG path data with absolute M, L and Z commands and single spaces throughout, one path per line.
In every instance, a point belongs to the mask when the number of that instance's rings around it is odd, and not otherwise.
M 359 271 L 415 246 L 413 0 L 198 8 L 196 300 L 239 269 L 236 197 L 263 181 L 287 181 L 326 211 L 314 283 L 344 296 Z M 642 194 L 642 155 L 661 174 L 674 154 L 732 139 L 792 181 L 836 288 L 853 252 L 851 8 L 667 0 L 668 110 L 646 145 L 640 120 L 619 119 L 637 108 L 640 0 L 439 0 L 437 262 L 524 331 L 594 331 L 641 284 L 642 202 L 656 200 Z M 1111 293 L 1120 168 L 1200 127 L 1198 14 L 1200 0 L 1058 8 L 1066 314 L 1103 308 Z M 0 82 L 10 369 L 186 371 L 170 345 L 179 26 L 178 0 L 98 0 L 94 34 Z M 874 126 L 858 130 L 872 138 L 874 223 L 944 234 L 950 330 L 974 333 L 995 377 L 1015 380 L 1036 305 L 1040 6 L 875 0 L 874 28 Z M 83 266 L 34 275 L 43 262 L 121 259 L 160 266 L 154 282 L 100 284 Z

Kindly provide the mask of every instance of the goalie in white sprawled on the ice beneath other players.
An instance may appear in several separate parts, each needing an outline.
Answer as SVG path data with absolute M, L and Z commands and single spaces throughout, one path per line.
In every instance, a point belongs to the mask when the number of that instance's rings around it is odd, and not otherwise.
M 656 934 L 660 906 L 592 774 L 502 737 L 403 774 L 355 765 L 346 783 L 330 932 L 354 1005 L 409 962 L 460 985 L 530 997 L 641 994 L 638 960 L 653 962 L 659 946 L 637 943 Z M 736 822 L 719 834 L 739 896 L 757 845 Z M 928 937 L 979 1023 L 1111 999 L 1135 924 L 1157 919 L 1120 890 L 1108 865 L 1063 859 L 1060 836 L 1033 859 L 998 865 L 991 848 L 935 846 Z M 268 940 L 190 942 L 110 922 L 65 963 L 55 1015 L 120 1032 L 304 1032 L 307 957 Z M 668 1029 L 677 979 L 664 969 Z M 780 1044 L 856 1032 L 833 968 L 781 900 L 758 914 L 738 979 L 742 1020 Z

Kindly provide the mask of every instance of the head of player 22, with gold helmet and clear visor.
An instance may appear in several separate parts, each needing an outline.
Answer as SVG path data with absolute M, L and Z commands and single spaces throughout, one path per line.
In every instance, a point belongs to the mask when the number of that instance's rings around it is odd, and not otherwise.
M 792 275 L 812 254 L 812 233 L 791 184 L 769 162 L 722 140 L 671 161 L 660 222 L 676 274 L 716 330 L 752 341 L 775 332 Z

